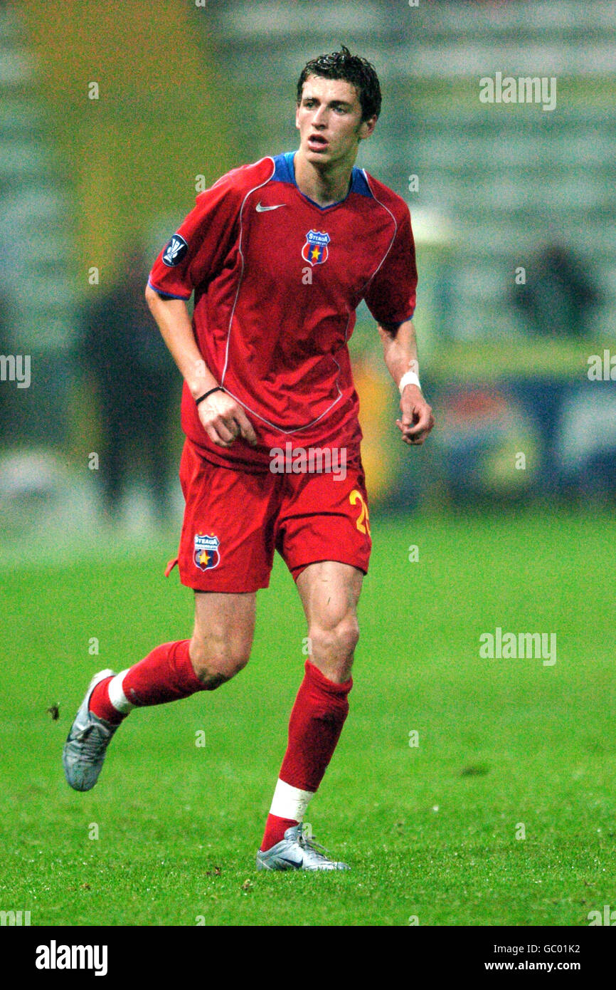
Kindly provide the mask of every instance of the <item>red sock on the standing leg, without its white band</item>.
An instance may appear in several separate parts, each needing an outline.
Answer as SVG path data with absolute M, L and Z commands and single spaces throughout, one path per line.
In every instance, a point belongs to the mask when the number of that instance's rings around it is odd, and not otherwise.
M 299 790 L 314 793 L 323 779 L 349 713 L 347 696 L 353 687 L 353 678 L 336 684 L 309 660 L 305 669 L 306 674 L 289 721 L 289 743 L 280 779 Z M 268 815 L 261 851 L 284 839 L 287 829 L 297 824 L 293 819 Z

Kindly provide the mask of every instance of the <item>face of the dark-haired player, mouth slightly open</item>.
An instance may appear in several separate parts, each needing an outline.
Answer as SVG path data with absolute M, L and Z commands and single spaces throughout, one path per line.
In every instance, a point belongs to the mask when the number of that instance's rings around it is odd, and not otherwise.
M 360 141 L 375 129 L 377 118 L 362 122 L 355 86 L 344 79 L 309 75 L 296 110 L 300 148 L 313 164 L 355 161 Z

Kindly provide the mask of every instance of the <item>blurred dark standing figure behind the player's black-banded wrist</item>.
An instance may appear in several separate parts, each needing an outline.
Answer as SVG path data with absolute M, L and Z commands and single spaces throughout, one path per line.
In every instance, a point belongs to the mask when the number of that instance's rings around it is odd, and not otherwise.
M 169 511 L 169 416 L 180 381 L 145 304 L 147 273 L 142 249 L 133 246 L 121 280 L 86 314 L 81 356 L 98 391 L 105 509 L 118 514 L 134 468 L 145 471 L 162 521 Z

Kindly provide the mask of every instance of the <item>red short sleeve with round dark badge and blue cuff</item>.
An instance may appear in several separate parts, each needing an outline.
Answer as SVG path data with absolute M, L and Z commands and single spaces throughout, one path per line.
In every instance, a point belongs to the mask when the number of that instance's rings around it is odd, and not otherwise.
M 158 254 L 149 285 L 163 296 L 190 299 L 197 286 L 218 274 L 237 238 L 240 190 L 232 173 L 200 193 L 196 205 Z

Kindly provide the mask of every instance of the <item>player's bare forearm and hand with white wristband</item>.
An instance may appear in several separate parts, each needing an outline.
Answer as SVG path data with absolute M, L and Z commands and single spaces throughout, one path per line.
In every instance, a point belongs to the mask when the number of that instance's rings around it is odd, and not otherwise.
M 399 386 L 406 371 L 413 371 L 418 376 L 417 342 L 412 320 L 405 320 L 398 325 L 379 324 L 379 335 L 383 342 L 385 363 L 396 386 Z M 434 417 L 418 385 L 411 383 L 404 386 L 400 397 L 400 413 L 396 427 L 404 443 L 409 446 L 423 444 L 434 426 Z

